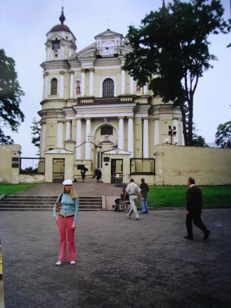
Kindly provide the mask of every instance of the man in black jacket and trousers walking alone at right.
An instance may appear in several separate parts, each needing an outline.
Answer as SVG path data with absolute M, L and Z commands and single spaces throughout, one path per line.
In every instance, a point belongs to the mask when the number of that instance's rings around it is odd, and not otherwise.
M 204 232 L 204 240 L 209 237 L 210 231 L 201 221 L 201 211 L 202 211 L 202 192 L 199 187 L 195 185 L 195 180 L 193 178 L 188 178 L 188 190 L 186 193 L 187 205 L 186 205 L 186 228 L 188 235 L 184 238 L 186 240 L 193 240 L 192 234 L 192 220 L 194 224 Z

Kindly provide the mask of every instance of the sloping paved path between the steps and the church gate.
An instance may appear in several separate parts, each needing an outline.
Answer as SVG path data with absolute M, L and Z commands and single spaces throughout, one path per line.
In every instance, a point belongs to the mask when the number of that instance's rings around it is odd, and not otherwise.
M 98 183 L 92 178 L 85 179 L 84 183 L 82 183 L 82 180 L 78 179 L 78 183 L 74 183 L 74 188 L 79 196 L 120 196 L 122 192 L 122 188 L 114 187 L 114 184 Z M 42 183 L 34 187 L 18 191 L 15 195 L 55 196 L 59 195 L 62 190 L 62 183 Z

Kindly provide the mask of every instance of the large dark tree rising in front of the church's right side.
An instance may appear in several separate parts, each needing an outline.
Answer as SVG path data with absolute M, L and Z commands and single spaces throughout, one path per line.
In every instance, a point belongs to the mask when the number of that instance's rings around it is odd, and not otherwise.
M 212 68 L 209 34 L 230 31 L 230 21 L 223 19 L 219 0 L 189 0 L 172 3 L 150 12 L 142 26 L 129 27 L 124 69 L 141 86 L 148 88 L 164 103 L 180 106 L 185 145 L 193 145 L 193 103 L 198 79 Z

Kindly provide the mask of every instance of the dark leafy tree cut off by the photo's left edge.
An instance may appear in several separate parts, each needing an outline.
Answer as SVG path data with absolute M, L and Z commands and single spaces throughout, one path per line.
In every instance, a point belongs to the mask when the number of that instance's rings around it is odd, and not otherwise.
M 0 144 L 13 143 L 10 136 L 5 136 L 3 126 L 17 132 L 18 126 L 24 121 L 19 105 L 25 93 L 17 81 L 14 66 L 14 60 L 6 56 L 4 49 L 0 49 Z

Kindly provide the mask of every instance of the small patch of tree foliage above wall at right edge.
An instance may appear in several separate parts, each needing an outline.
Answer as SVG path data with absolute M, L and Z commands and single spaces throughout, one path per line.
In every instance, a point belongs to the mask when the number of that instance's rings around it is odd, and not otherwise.
M 216 144 L 221 148 L 231 148 L 231 121 L 219 124 L 216 132 Z

